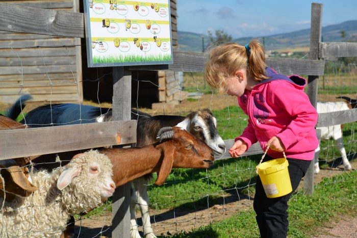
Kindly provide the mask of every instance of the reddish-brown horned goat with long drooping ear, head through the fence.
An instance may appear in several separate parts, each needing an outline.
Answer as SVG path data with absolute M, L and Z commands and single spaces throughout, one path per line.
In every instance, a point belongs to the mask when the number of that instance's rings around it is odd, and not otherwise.
M 157 172 L 156 185 L 165 182 L 171 168 L 209 168 L 212 149 L 180 127 L 172 127 L 173 137 L 142 148 L 103 149 L 113 163 L 113 180 L 121 186 L 145 174 Z

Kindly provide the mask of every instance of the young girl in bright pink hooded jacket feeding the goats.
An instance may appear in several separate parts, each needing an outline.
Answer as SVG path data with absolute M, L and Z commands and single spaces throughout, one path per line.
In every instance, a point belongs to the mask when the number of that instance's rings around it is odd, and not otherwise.
M 285 151 L 294 192 L 318 146 L 314 128 L 318 114 L 303 91 L 305 79 L 278 74 L 267 67 L 263 46 L 257 40 L 245 46 L 227 43 L 214 47 L 205 76 L 212 88 L 237 96 L 249 117 L 243 134 L 229 151 L 231 156 L 242 155 L 257 141 L 263 151 L 270 146 L 263 162 L 281 158 Z M 293 192 L 267 198 L 258 176 L 253 207 L 262 237 L 287 236 L 288 200 Z

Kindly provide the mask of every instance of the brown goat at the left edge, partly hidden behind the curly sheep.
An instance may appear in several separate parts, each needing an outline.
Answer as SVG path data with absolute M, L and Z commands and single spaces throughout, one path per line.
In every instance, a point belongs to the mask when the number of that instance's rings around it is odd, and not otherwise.
M 25 126 L 0 115 L 0 130 L 21 128 Z M 30 196 L 37 190 L 37 187 L 29 181 L 29 170 L 26 167 L 32 158 L 35 156 L 0 161 L 0 174 L 4 179 L 0 179 L 0 196 L 5 196 L 6 201 L 13 200 L 15 196 Z

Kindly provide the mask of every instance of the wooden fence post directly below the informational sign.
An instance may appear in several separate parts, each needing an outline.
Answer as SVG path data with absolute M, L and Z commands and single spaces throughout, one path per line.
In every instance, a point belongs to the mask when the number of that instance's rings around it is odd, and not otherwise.
M 131 119 L 132 73 L 113 67 L 113 120 Z M 112 237 L 130 237 L 130 182 L 113 195 Z

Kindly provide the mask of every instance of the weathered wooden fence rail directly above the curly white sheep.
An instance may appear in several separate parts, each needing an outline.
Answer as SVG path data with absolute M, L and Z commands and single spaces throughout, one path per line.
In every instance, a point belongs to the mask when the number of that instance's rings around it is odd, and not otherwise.
M 2 130 L 0 160 L 135 141 L 135 120 Z

